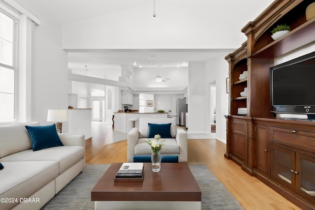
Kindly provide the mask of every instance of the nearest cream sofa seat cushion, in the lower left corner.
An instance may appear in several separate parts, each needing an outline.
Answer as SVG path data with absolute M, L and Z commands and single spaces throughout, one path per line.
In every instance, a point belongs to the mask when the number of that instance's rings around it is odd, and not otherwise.
M 56 161 L 4 162 L 0 172 L 0 198 L 26 198 L 58 176 Z M 1 203 L 0 209 L 9 209 L 16 203 Z

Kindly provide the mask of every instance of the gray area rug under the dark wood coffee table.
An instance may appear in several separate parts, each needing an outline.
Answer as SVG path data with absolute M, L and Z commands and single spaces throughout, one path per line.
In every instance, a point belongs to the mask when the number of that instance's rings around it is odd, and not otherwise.
M 110 165 L 86 165 L 42 210 L 94 210 L 91 190 Z M 189 164 L 201 190 L 202 210 L 243 210 L 233 195 L 205 165 Z

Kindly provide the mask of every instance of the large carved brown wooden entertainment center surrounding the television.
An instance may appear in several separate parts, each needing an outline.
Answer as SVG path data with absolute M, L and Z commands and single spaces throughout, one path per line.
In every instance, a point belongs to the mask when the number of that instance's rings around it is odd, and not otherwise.
M 276 58 L 315 44 L 315 18 L 307 21 L 305 14 L 313 2 L 275 0 L 241 30 L 247 41 L 225 57 L 230 104 L 224 156 L 305 210 L 315 209 L 315 121 L 270 112 L 270 68 Z M 291 31 L 273 40 L 270 31 L 280 24 Z M 244 71 L 248 78 L 240 80 Z M 247 96 L 240 95 L 244 88 Z M 247 114 L 238 115 L 238 108 Z

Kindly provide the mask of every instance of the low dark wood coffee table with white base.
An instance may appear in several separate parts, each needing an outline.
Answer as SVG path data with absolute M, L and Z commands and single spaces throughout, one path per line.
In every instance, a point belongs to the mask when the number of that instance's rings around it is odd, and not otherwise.
M 187 163 L 161 163 L 159 173 L 144 163 L 141 182 L 115 182 L 122 163 L 113 163 L 91 191 L 95 210 L 198 210 L 201 191 Z

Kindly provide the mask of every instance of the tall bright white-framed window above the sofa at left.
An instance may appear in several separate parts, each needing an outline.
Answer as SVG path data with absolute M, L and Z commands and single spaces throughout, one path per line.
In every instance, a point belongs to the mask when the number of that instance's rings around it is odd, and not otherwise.
M 17 20 L 0 11 L 0 122 L 16 117 Z

